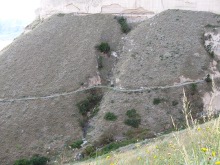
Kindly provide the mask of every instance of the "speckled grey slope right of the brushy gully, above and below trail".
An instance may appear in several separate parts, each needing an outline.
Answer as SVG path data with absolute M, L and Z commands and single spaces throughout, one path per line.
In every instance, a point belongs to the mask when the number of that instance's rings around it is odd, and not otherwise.
M 113 134 L 117 132 L 116 138 L 125 137 L 128 130 L 135 130 L 124 124 L 127 110 L 133 108 L 141 116 L 140 128 L 148 129 L 147 136 L 172 129 L 171 116 L 177 125 L 183 124 L 183 88 L 191 101 L 193 117 L 200 116 L 204 106 L 202 98 L 211 90 L 211 84 L 204 79 L 213 73 L 210 69 L 213 59 L 205 50 L 204 33 L 208 24 L 219 23 L 220 16 L 212 13 L 168 10 L 126 36 L 114 70 L 115 86 L 140 90 L 109 91 L 101 104 L 101 112 L 91 121 L 88 138 L 95 141 L 111 127 Z M 182 85 L 187 81 L 197 85 Z M 104 120 L 107 112 L 115 113 L 118 119 Z

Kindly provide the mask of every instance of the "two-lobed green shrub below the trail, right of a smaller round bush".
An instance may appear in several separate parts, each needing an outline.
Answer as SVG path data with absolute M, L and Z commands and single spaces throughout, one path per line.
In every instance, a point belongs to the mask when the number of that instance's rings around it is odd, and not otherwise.
M 135 109 L 128 110 L 126 112 L 126 115 L 128 116 L 128 119 L 125 119 L 124 123 L 128 126 L 138 128 L 141 123 L 141 117 L 136 112 Z

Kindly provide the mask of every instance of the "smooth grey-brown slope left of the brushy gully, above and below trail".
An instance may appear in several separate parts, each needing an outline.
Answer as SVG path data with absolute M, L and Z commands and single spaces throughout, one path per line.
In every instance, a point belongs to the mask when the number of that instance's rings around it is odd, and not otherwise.
M 83 94 L 38 97 L 99 84 L 94 47 L 107 41 L 115 49 L 120 36 L 113 16 L 58 14 L 1 53 L 1 165 L 22 156 L 51 154 L 82 138 L 75 104 Z

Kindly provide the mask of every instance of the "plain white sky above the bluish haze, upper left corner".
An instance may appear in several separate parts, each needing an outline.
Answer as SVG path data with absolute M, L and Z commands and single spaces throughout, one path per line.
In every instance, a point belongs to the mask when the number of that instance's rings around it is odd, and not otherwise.
M 0 0 L 0 19 L 33 20 L 40 0 Z

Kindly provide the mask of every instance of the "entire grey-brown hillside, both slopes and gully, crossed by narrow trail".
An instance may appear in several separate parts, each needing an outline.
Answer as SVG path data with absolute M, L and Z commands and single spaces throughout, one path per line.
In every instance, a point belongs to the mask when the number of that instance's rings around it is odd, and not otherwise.
M 192 118 L 208 113 L 207 75 L 219 113 L 219 15 L 168 10 L 128 34 L 117 19 L 57 14 L 1 52 L 1 164 L 35 154 L 73 161 L 88 146 L 169 132 L 171 117 L 183 128 L 183 88 Z M 97 51 L 102 42 L 111 52 Z

